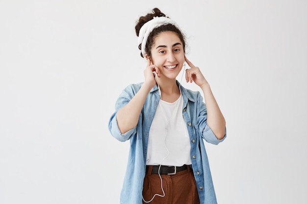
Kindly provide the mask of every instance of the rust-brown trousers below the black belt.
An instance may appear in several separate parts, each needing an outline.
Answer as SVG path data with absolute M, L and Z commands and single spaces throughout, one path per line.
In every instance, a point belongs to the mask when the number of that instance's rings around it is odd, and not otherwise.
M 161 174 L 164 193 L 159 175 L 152 174 L 151 170 L 149 168 L 144 178 L 143 204 L 152 199 L 150 204 L 200 204 L 196 181 L 189 166 L 175 175 Z

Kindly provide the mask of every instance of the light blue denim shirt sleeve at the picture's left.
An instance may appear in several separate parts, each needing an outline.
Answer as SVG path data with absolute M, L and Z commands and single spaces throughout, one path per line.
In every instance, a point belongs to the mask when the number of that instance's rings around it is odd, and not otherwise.
M 123 90 L 115 103 L 115 112 L 111 115 L 109 119 L 108 129 L 111 135 L 122 142 L 128 140 L 132 135 L 136 134 L 136 126 L 131 130 L 127 131 L 126 133 L 122 134 L 117 124 L 116 113 L 119 109 L 128 104 L 128 102 L 132 99 L 134 95 L 135 90 L 133 89 L 132 85 L 129 85 L 125 90 Z

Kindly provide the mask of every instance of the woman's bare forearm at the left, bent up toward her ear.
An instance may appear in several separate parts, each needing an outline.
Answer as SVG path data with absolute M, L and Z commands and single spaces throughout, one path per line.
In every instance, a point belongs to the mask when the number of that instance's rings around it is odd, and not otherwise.
M 151 88 L 143 84 L 129 103 L 116 113 L 117 125 L 121 133 L 126 133 L 137 125 L 139 115 Z

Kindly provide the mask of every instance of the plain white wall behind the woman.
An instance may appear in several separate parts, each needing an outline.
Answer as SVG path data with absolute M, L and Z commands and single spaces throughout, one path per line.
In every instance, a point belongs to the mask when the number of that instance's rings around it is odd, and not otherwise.
M 0 0 L 0 204 L 119 203 L 129 144 L 107 123 L 143 81 L 153 7 L 226 117 L 206 145 L 219 204 L 306 204 L 306 0 Z

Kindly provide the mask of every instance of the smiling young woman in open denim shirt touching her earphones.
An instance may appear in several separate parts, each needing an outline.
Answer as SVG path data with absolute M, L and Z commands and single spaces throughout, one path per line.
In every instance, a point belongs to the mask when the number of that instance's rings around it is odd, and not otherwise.
M 210 86 L 186 58 L 179 26 L 158 8 L 135 30 L 145 80 L 120 94 L 108 126 L 118 140 L 130 139 L 121 204 L 216 204 L 203 139 L 223 141 L 226 125 Z M 202 89 L 205 103 L 176 80 L 185 63 L 182 74 Z

